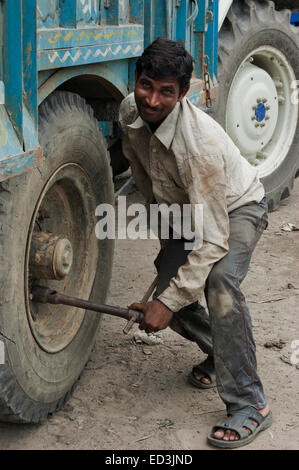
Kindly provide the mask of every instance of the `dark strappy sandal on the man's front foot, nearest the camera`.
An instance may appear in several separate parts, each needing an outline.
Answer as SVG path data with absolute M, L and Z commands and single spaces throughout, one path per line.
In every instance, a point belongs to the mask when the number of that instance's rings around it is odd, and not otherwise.
M 232 411 L 228 416 L 232 416 L 232 418 L 225 418 L 219 421 L 212 428 L 211 434 L 208 436 L 208 442 L 215 447 L 234 449 L 235 447 L 245 446 L 253 441 L 259 432 L 267 429 L 272 424 L 271 411 L 264 417 L 252 406 L 245 406 L 240 410 Z M 258 424 L 253 423 L 250 418 L 254 419 Z M 243 429 L 244 427 L 250 430 L 250 434 L 248 434 L 246 429 Z M 213 436 L 218 429 L 235 431 L 239 435 L 239 440 L 224 441 L 223 439 L 216 439 Z

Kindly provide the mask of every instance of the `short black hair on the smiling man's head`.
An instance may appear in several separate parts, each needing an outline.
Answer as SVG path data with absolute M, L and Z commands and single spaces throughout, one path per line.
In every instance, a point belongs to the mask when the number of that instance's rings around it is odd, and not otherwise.
M 138 58 L 137 78 L 144 72 L 153 80 L 176 77 L 180 91 L 190 86 L 193 72 L 193 57 L 186 51 L 181 41 L 157 38 Z

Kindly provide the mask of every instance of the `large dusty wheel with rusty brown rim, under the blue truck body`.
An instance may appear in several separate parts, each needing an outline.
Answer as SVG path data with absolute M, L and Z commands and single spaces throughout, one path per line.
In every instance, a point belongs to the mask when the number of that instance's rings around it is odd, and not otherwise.
M 114 242 L 97 240 L 95 209 L 113 204 L 112 173 L 92 109 L 78 95 L 53 93 L 40 107 L 39 140 L 41 168 L 0 185 L 2 421 L 37 423 L 57 411 L 88 361 L 99 325 L 91 312 L 32 302 L 32 286 L 104 303 L 111 277 Z M 41 235 L 72 245 L 73 265 L 61 280 L 32 261 L 33 240 Z M 70 250 L 62 253 L 69 267 Z

